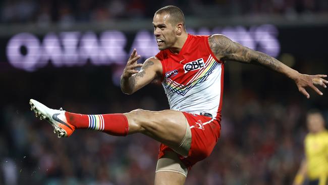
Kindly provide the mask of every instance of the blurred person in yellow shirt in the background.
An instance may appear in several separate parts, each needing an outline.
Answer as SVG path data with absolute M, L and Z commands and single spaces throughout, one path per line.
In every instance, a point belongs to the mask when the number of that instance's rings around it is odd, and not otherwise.
M 305 178 L 309 185 L 327 185 L 328 176 L 328 131 L 324 119 L 317 110 L 309 111 L 306 117 L 309 133 L 305 137 L 305 159 L 294 179 L 294 185 L 301 185 Z

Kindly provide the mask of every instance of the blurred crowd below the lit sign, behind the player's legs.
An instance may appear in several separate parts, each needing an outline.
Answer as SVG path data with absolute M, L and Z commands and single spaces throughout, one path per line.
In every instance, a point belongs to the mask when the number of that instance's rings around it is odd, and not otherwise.
M 57 138 L 46 121 L 34 117 L 28 100 L 84 114 L 162 110 L 168 105 L 161 87 L 148 85 L 126 96 L 108 84 L 104 71 L 61 71 L 56 77 L 46 71 L 23 74 L 25 78 L 14 84 L 15 93 L 4 92 L 17 99 L 5 99 L 0 111 L 0 184 L 153 184 L 159 143 L 142 134 L 115 137 L 90 130 Z M 236 94 L 227 71 L 221 138 L 210 157 L 192 168 L 186 184 L 292 183 L 304 157 L 305 113 L 319 97 L 311 91 L 311 100 L 305 100 L 292 82 L 272 73 L 267 76 L 257 78 L 262 83 L 246 77 L 248 83 L 243 84 L 249 87 Z M 266 88 L 271 80 L 280 81 L 284 90 Z M 46 82 L 56 89 L 46 87 Z M 11 83 L 5 79 L 7 84 Z

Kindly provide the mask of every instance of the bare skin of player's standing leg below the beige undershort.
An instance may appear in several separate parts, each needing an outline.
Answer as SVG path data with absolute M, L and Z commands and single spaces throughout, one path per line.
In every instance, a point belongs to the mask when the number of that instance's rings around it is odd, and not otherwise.
M 155 174 L 155 185 L 183 185 L 186 177 L 180 173 L 160 171 Z

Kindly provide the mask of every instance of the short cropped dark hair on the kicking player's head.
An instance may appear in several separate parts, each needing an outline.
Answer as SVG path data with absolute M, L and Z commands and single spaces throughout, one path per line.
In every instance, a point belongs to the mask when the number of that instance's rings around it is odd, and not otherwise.
M 163 13 L 169 14 L 170 18 L 171 18 L 171 21 L 173 21 L 174 24 L 177 24 L 177 23 L 181 22 L 182 25 L 184 27 L 186 27 L 185 26 L 185 16 L 183 15 L 182 10 L 179 9 L 178 7 L 172 6 L 172 5 L 163 7 L 161 9 L 157 10 L 155 12 L 155 15 L 156 14 L 163 14 Z

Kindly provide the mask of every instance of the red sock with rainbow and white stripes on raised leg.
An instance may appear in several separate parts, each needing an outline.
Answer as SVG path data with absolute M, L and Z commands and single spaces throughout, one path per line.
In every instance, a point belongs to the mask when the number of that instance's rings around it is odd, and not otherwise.
M 129 131 L 124 114 L 85 115 L 65 112 L 69 124 L 81 129 L 103 131 L 111 135 L 125 136 Z

